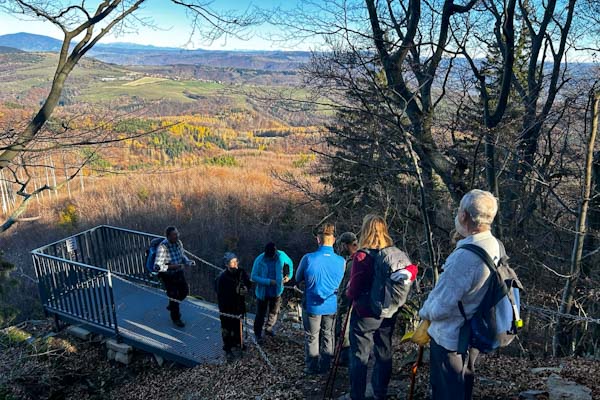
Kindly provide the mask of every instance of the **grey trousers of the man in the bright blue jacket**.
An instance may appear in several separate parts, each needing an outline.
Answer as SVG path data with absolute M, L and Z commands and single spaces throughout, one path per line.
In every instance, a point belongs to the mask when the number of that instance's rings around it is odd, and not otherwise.
M 304 358 L 312 372 L 327 371 L 333 358 L 335 314 L 315 315 L 302 310 Z

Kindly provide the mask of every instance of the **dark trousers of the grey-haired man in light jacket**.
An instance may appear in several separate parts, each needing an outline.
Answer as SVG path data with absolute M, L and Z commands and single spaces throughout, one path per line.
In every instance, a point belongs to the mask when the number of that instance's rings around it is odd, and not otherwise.
M 432 400 L 471 400 L 475 382 L 476 349 L 467 354 L 448 351 L 431 339 L 429 379 Z

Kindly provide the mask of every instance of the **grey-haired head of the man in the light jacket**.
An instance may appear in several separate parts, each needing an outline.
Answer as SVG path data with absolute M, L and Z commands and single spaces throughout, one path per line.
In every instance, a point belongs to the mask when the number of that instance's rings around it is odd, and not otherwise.
M 498 200 L 493 194 L 473 189 L 460 200 L 454 226 L 463 237 L 489 231 L 497 212 Z

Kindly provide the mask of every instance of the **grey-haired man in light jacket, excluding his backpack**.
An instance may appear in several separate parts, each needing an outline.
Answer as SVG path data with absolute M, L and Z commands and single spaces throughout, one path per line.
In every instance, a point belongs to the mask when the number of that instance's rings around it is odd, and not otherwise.
M 467 354 L 457 352 L 459 331 L 465 323 L 458 303 L 462 302 L 466 318 L 472 318 L 485 295 L 490 272 L 479 256 L 460 247 L 477 245 L 497 263 L 500 244 L 491 232 L 497 211 L 497 200 L 490 192 L 474 189 L 461 199 L 454 223 L 464 239 L 456 244 L 456 250 L 444 264 L 444 273 L 419 311 L 422 319 L 431 321 L 427 332 L 431 337 L 434 400 L 471 399 L 473 395 L 474 365 L 479 352 L 473 348 Z

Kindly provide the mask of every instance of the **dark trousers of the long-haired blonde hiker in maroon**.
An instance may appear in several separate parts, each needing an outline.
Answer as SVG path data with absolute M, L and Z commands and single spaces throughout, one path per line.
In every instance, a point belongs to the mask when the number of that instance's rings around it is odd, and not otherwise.
M 392 333 L 396 316 L 361 318 L 352 311 L 350 317 L 350 397 L 363 400 L 367 389 L 367 365 L 371 350 L 375 368 L 371 384 L 376 399 L 385 399 L 392 375 Z

